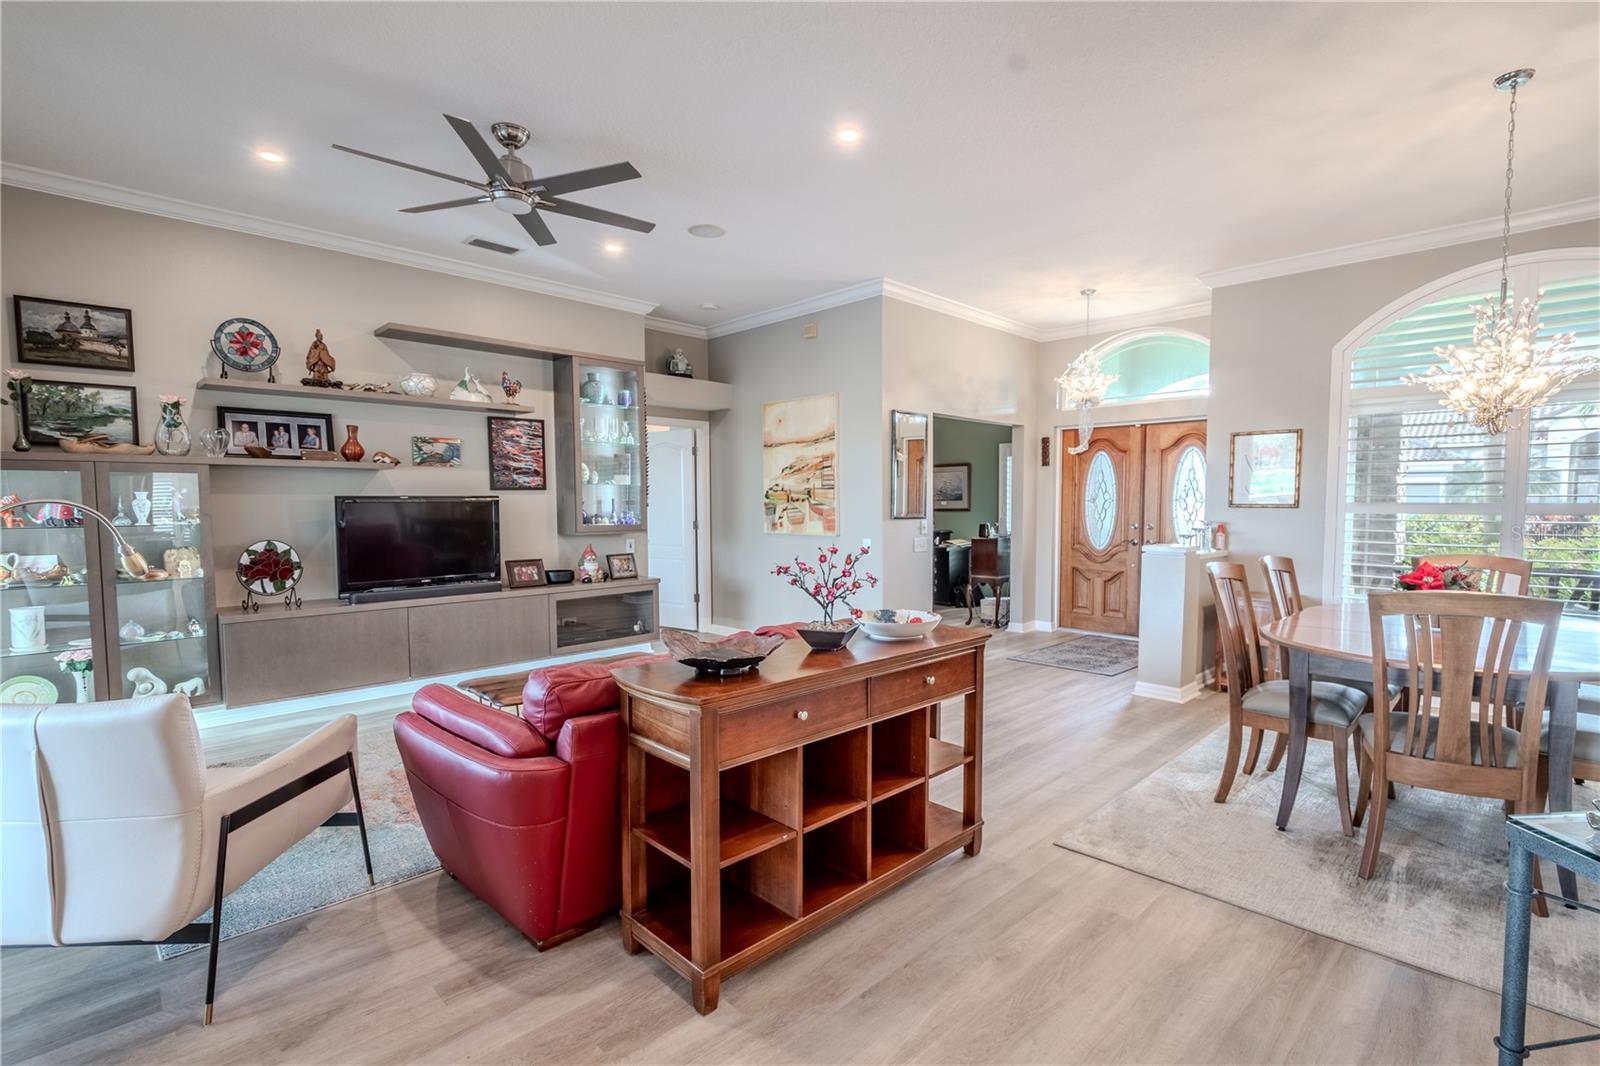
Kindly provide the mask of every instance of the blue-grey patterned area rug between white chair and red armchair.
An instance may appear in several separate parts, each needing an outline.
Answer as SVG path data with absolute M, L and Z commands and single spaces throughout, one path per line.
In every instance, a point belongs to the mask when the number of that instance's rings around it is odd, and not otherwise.
M 411 787 L 406 784 L 392 730 L 362 730 L 355 771 L 362 783 L 373 880 L 378 884 L 366 884 L 362 839 L 354 828 L 317 829 L 227 896 L 222 903 L 222 940 L 438 869 L 438 860 L 427 845 L 422 823 L 411 804 Z M 198 920 L 210 920 L 210 914 L 206 911 Z M 173 959 L 202 948 L 203 944 L 166 944 L 157 948 L 157 952 L 162 959 Z

